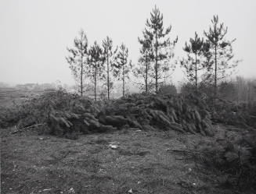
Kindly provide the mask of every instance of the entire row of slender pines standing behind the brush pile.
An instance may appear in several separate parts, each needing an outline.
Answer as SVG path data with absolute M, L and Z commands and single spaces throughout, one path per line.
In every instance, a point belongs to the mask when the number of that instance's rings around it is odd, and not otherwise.
M 150 19 L 146 19 L 146 27 L 142 37 L 138 38 L 140 56 L 138 64 L 133 65 L 128 58 L 128 48 L 124 43 L 114 47 L 110 37 L 106 37 L 101 44 L 96 41 L 88 46 L 85 31 L 81 30 L 79 37 L 74 39 L 74 48 L 67 48 L 70 55 L 67 62 L 78 83 L 78 91 L 83 96 L 85 81 L 90 79 L 94 85 L 94 97 L 97 98 L 97 84 L 103 82 L 107 89 L 107 98 L 114 87 L 113 79 L 122 82 L 122 94 L 125 95 L 125 81 L 132 75 L 138 79 L 139 87 L 146 93 L 158 93 L 166 79 L 171 76 L 178 64 L 184 69 L 186 78 L 198 90 L 199 83 L 209 83 L 215 88 L 215 97 L 218 95 L 218 83 L 229 76 L 239 61 L 233 61 L 233 41 L 226 41 L 227 27 L 219 23 L 218 16 L 211 20 L 209 30 L 204 31 L 204 37 L 197 32 L 183 50 L 186 57 L 174 58 L 175 44 L 178 37 L 171 40 L 171 26 L 164 28 L 163 14 L 157 6 L 150 12 Z

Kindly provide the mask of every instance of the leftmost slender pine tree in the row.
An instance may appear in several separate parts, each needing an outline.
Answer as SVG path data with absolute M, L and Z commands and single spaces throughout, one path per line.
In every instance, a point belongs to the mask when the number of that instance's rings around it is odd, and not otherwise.
M 78 83 L 78 92 L 83 96 L 85 89 L 86 69 L 88 68 L 88 40 L 85 31 L 81 30 L 80 37 L 74 39 L 74 48 L 67 48 L 70 56 L 66 58 L 70 64 L 70 69 L 74 75 L 76 83 Z

